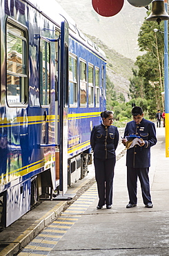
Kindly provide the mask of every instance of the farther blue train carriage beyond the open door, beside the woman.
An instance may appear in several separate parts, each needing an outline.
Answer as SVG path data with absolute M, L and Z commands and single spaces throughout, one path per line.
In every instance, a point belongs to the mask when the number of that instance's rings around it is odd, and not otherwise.
M 90 132 L 106 109 L 106 56 L 69 24 L 68 184 L 82 179 L 91 163 Z

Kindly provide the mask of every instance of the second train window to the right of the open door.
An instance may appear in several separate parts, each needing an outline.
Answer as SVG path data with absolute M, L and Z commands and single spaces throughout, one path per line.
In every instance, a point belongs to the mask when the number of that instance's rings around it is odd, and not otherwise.
M 81 68 L 81 66 L 82 66 L 82 64 L 83 65 L 85 65 L 85 69 L 83 69 L 82 70 L 82 68 Z M 79 93 L 80 93 L 80 107 L 87 107 L 87 96 L 88 96 L 88 92 L 87 92 L 87 86 L 88 86 L 88 84 L 87 84 L 87 63 L 86 63 L 86 60 L 83 60 L 83 59 L 79 59 L 79 72 L 80 72 L 80 89 L 79 89 Z M 82 78 L 82 79 L 81 79 Z M 82 102 L 82 97 L 81 97 L 81 95 L 82 95 L 82 93 L 81 93 L 81 88 L 83 89 L 83 86 L 85 86 L 85 89 L 86 89 L 86 98 L 85 98 L 85 102 L 83 103 Z M 84 90 L 85 91 L 85 90 Z

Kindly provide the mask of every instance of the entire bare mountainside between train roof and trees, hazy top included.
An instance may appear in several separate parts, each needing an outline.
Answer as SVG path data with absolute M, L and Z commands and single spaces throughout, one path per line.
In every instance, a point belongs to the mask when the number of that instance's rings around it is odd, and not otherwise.
M 108 76 L 115 84 L 117 93 L 122 92 L 128 100 L 128 79 L 132 77 L 136 57 L 142 54 L 137 37 L 147 16 L 146 8 L 136 8 L 124 0 L 123 8 L 117 15 L 101 17 L 92 8 L 92 0 L 56 1 L 74 19 L 77 27 L 106 52 Z

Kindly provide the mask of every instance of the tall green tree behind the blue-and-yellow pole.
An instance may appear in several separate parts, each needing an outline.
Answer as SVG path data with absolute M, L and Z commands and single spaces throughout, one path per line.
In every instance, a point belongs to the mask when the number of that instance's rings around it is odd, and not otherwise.
M 138 97 L 155 102 L 156 109 L 163 107 L 161 92 L 163 91 L 163 34 L 155 33 L 156 22 L 144 21 L 141 26 L 138 42 L 142 56 L 137 57 L 135 64 L 139 67 L 138 73 L 133 73 L 130 80 L 130 97 Z M 159 25 L 163 31 L 163 22 Z M 138 82 L 139 81 L 139 82 Z

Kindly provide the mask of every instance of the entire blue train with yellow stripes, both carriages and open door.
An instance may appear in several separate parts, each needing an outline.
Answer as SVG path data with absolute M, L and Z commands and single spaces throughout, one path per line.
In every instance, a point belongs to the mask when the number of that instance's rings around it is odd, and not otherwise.
M 84 176 L 90 129 L 105 109 L 105 58 L 75 25 L 69 36 L 73 21 L 55 1 L 3 0 L 0 12 L 0 213 L 9 226 Z

